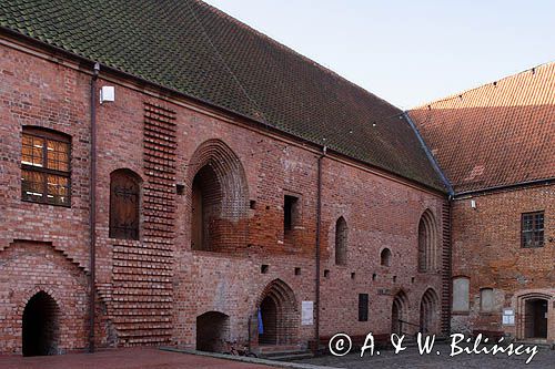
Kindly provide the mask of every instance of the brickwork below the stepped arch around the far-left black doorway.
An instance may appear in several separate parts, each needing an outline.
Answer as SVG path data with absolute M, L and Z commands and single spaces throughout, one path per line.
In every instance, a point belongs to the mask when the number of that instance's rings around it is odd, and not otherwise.
M 2 250 L 0 277 L 0 351 L 21 353 L 22 318 L 27 301 L 44 291 L 57 303 L 58 350 L 87 347 L 87 279 L 49 243 L 14 242 Z

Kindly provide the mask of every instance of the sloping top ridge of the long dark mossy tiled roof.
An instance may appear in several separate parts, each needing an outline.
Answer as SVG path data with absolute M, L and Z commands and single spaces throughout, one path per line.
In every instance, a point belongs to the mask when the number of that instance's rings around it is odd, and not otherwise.
M 373 96 L 373 98 L 375 98 L 375 99 L 379 99 L 379 100 L 380 100 L 380 101 L 382 101 L 383 103 L 385 103 L 385 104 L 387 104 L 387 105 L 390 105 L 390 106 L 392 106 L 392 107 L 394 107 L 394 109 L 397 109 L 397 110 L 398 110 L 398 111 L 401 111 L 401 112 L 403 111 L 401 107 L 393 105 L 393 104 L 392 104 L 392 103 L 390 103 L 389 101 L 386 101 L 386 100 L 384 100 L 383 98 L 381 98 L 381 96 L 379 96 L 379 95 L 374 94 L 373 92 L 371 92 L 371 91 L 366 90 L 365 88 L 363 88 L 363 86 L 361 86 L 361 85 L 359 85 L 359 84 L 356 84 L 356 83 L 354 83 L 354 82 L 352 82 L 352 81 L 347 80 L 346 78 L 342 76 L 341 74 L 339 74 L 337 72 L 333 71 L 332 69 L 330 69 L 330 68 L 327 68 L 327 66 L 325 66 L 325 65 L 322 65 L 321 63 L 319 63 L 319 62 L 316 62 L 316 61 L 314 61 L 314 60 L 310 59 L 310 58 L 309 58 L 309 57 L 306 57 L 306 55 L 303 55 L 303 54 L 302 54 L 302 53 L 300 53 L 299 51 L 296 51 L 296 50 L 294 50 L 294 49 L 292 49 L 292 48 L 287 47 L 287 45 L 286 45 L 286 44 L 284 44 L 284 43 L 281 43 L 280 41 L 278 41 L 278 40 L 275 40 L 275 39 L 273 39 L 273 38 L 269 37 L 269 35 L 268 35 L 268 34 L 265 34 L 265 33 L 263 33 L 263 32 L 261 32 L 261 31 L 259 31 L 259 30 L 256 30 L 256 29 L 252 28 L 251 25 L 246 24 L 245 22 L 242 22 L 241 20 L 239 20 L 239 19 L 234 18 L 233 16 L 228 14 L 228 13 L 226 13 L 226 12 L 224 12 L 223 10 L 220 10 L 220 9 L 215 8 L 214 6 L 212 6 L 212 4 L 208 3 L 208 2 L 204 2 L 204 1 L 202 1 L 202 0 L 192 0 L 192 1 L 194 1 L 194 2 L 199 3 L 199 4 L 203 6 L 203 7 L 209 8 L 209 9 L 210 9 L 210 11 L 212 11 L 213 13 L 215 13 L 218 17 L 224 18 L 224 19 L 226 19 L 226 20 L 229 20 L 229 21 L 233 22 L 233 23 L 234 23 L 234 24 L 236 24 L 238 27 L 240 27 L 240 28 L 242 28 L 242 29 L 244 29 L 244 30 L 246 30 L 246 31 L 249 31 L 249 32 L 252 32 L 252 33 L 254 33 L 254 34 L 256 34 L 256 35 L 259 35 L 259 37 L 264 38 L 264 39 L 265 39 L 266 41 L 269 41 L 270 43 L 272 43 L 272 44 L 274 44 L 274 45 L 276 45 L 276 47 L 279 47 L 279 48 L 281 48 L 281 49 L 284 49 L 286 52 L 293 53 L 294 55 L 299 57 L 300 59 L 302 59 L 302 60 L 304 60 L 304 61 L 306 61 L 306 62 L 311 63 L 311 64 L 312 64 L 312 65 L 314 65 L 314 66 L 316 66 L 316 68 L 317 68 L 317 69 L 320 69 L 322 72 L 325 72 L 325 73 L 327 73 L 327 74 L 331 74 L 331 75 L 332 75 L 332 76 L 334 76 L 335 79 L 341 80 L 341 81 L 343 81 L 343 82 L 346 82 L 347 84 L 350 84 L 350 85 L 352 85 L 352 86 L 354 86 L 354 88 L 356 88 L 356 89 L 359 89 L 359 90 L 361 90 L 361 91 L 364 91 L 364 93 L 366 93 L 366 94 L 369 94 L 369 95 L 372 95 L 372 96 Z

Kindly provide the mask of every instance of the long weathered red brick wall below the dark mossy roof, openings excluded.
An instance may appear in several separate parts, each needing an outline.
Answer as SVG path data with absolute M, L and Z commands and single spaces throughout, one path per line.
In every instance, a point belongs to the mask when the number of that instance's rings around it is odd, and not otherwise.
M 2 320 L 0 351 L 20 352 L 21 308 L 14 307 L 24 307 L 30 297 L 26 291 L 34 289 L 51 293 L 67 317 L 61 321 L 61 347 L 83 348 L 90 75 L 6 45 L 0 48 L 0 275 L 2 290 L 12 294 L 2 299 L 9 303 L 1 305 L 0 315 L 10 318 Z M 230 338 L 246 340 L 249 318 L 274 280 L 294 295 L 293 309 L 287 312 L 287 319 L 296 322 L 294 342 L 312 339 L 314 326 L 302 326 L 300 319 L 301 303 L 315 298 L 317 154 L 248 129 L 244 122 L 233 123 L 155 99 L 102 75 L 99 84 L 115 85 L 115 102 L 97 106 L 99 345 L 194 347 L 196 317 L 206 311 L 228 315 Z M 149 106 L 170 112 L 175 131 L 147 124 L 151 122 L 145 117 Z M 71 135 L 71 208 L 21 202 L 22 125 Z M 158 139 L 150 145 L 152 134 Z M 157 150 L 162 145 L 157 135 L 174 135 L 170 137 L 170 151 Z M 199 151 L 203 145 L 208 148 Z M 223 163 L 221 168 L 233 174 L 222 176 L 224 187 L 242 194 L 239 199 L 224 201 L 244 207 L 225 208 L 218 221 L 222 222 L 216 228 L 218 239 L 232 242 L 218 252 L 191 252 L 192 181 L 199 163 L 210 161 Z M 108 237 L 110 173 L 119 168 L 129 168 L 142 178 L 139 240 Z M 161 178 L 160 173 L 168 176 Z M 175 194 L 176 184 L 184 185 L 182 195 Z M 157 193 L 164 195 L 157 197 Z M 283 232 L 285 194 L 297 196 L 300 202 L 300 216 L 287 237 Z M 417 273 L 418 221 L 428 208 L 441 235 L 444 197 L 330 157 L 323 160 L 322 195 L 321 334 L 389 332 L 393 295 L 400 290 L 407 298 L 406 318 L 418 324 L 425 290 L 442 294 L 444 266 L 438 263 L 437 270 Z M 163 201 L 157 203 L 153 197 Z M 255 202 L 253 208 L 249 208 L 249 201 Z M 340 216 L 349 228 L 346 266 L 334 265 L 334 225 Z M 18 247 L 23 247 L 18 239 L 42 243 L 24 246 L 34 250 L 27 259 L 10 259 Z M 385 247 L 393 254 L 390 267 L 380 266 L 380 252 Z M 442 247 L 441 237 L 437 247 Z M 50 258 L 56 263 L 48 262 Z M 18 262 L 23 259 L 26 263 Z M 50 265 L 51 271 L 43 273 L 42 268 L 50 270 Z M 266 273 L 261 273 L 261 265 L 269 266 Z M 370 294 L 367 322 L 357 321 L 360 293 Z M 252 332 L 255 335 L 255 330 Z

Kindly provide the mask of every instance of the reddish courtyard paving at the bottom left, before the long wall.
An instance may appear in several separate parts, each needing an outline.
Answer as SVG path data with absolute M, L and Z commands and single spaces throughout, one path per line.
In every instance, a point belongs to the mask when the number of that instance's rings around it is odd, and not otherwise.
M 104 350 L 95 353 L 68 353 L 23 358 L 0 357 L 1 369 L 269 369 L 263 365 L 222 360 L 154 348 Z

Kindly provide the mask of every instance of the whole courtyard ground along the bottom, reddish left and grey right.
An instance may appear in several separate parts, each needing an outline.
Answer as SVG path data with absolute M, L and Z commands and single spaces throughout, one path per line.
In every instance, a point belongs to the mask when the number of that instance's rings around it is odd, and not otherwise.
M 435 350 L 441 352 L 440 356 Z M 519 357 L 491 355 L 458 355 L 450 357 L 451 349 L 445 344 L 437 344 L 434 355 L 421 356 L 415 347 L 410 347 L 397 355 L 392 350 L 381 351 L 380 356 L 349 353 L 344 357 L 324 356 L 313 359 L 300 360 L 296 363 L 319 367 L 333 367 L 346 369 L 538 369 L 555 368 L 555 350 L 542 349 L 526 365 L 527 355 Z M 103 350 L 95 353 L 68 353 L 50 357 L 3 356 L 0 357 L 1 369 L 269 369 L 278 368 L 266 365 L 246 363 L 233 360 L 223 360 L 205 356 L 182 352 L 161 351 L 154 348 L 133 348 Z

